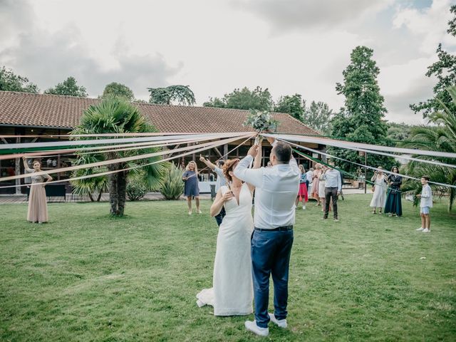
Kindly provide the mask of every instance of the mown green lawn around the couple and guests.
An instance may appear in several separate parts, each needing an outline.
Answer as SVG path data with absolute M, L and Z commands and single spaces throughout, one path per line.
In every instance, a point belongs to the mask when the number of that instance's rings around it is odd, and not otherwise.
M 370 199 L 346 196 L 340 222 L 312 202 L 297 211 L 289 329 L 270 324 L 271 341 L 456 340 L 456 215 L 436 204 L 425 234 L 410 202 L 390 218 Z M 1 205 L 0 341 L 261 340 L 246 317 L 195 304 L 212 282 L 210 203 L 188 217 L 184 201 L 129 202 L 124 219 L 106 203 L 49 204 L 40 225 Z

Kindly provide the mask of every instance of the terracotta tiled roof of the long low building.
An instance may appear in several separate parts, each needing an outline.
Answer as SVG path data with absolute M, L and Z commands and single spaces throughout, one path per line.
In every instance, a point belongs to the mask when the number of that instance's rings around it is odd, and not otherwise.
M 0 125 L 71 129 L 79 124 L 81 115 L 89 105 L 99 102 L 98 98 L 0 91 Z M 149 103 L 135 105 L 160 132 L 222 133 L 252 130 L 242 125 L 248 110 Z M 288 114 L 273 113 L 273 116 L 280 122 L 279 133 L 318 134 Z

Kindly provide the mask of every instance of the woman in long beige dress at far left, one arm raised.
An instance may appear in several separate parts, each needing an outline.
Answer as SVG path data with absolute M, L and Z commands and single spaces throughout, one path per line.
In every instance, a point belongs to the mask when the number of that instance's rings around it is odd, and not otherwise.
M 51 182 L 52 177 L 50 175 L 33 175 L 33 173 L 41 172 L 41 162 L 39 160 L 33 160 L 33 170 L 28 167 L 26 157 L 22 157 L 22 160 L 26 172 L 31 173 L 27 221 L 38 223 L 48 222 L 48 204 L 46 203 L 46 190 L 44 189 L 46 184 L 38 183 Z

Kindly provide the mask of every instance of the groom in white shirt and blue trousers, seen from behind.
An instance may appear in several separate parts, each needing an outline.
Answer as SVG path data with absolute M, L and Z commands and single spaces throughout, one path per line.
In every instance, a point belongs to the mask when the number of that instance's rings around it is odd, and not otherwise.
M 234 175 L 255 186 L 254 233 L 252 234 L 252 275 L 255 321 L 246 321 L 247 330 L 268 336 L 269 320 L 286 328 L 286 304 L 296 197 L 301 172 L 285 142 L 267 138 L 272 150 L 272 167 L 249 169 L 258 146 L 250 148 Z M 274 314 L 268 313 L 269 276 L 274 281 Z

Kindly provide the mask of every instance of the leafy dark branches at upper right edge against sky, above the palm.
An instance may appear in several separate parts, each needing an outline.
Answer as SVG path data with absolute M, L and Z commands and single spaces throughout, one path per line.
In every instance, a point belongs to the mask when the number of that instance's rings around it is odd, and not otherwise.
M 455 14 L 455 17 L 448 21 L 449 28 L 447 29 L 447 33 L 456 36 L 456 5 L 451 6 L 450 12 Z M 442 48 L 442 43 L 439 44 L 436 52 L 438 61 L 427 67 L 426 73 L 427 77 L 437 77 L 437 83 L 433 88 L 434 97 L 410 105 L 410 108 L 415 114 L 423 112 L 424 118 L 440 110 L 440 102 L 445 104 L 449 110 L 456 110 L 456 105 L 452 102 L 451 95 L 447 90 L 449 86 L 456 84 L 456 56 L 445 51 Z

